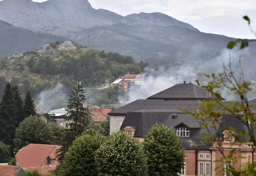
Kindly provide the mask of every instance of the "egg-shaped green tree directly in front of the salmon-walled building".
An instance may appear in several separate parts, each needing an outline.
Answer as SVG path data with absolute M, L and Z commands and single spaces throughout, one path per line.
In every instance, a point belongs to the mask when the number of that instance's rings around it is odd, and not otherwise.
M 149 175 L 179 175 L 184 167 L 182 142 L 172 129 L 155 124 L 144 137 Z

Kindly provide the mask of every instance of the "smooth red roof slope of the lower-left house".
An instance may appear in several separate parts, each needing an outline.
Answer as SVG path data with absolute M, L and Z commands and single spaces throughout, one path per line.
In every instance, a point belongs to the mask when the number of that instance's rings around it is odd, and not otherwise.
M 52 156 L 52 152 L 56 151 L 57 145 L 47 144 L 29 144 L 20 149 L 15 155 L 16 161 L 22 167 L 41 166 L 48 156 Z M 52 158 L 53 159 L 53 158 Z

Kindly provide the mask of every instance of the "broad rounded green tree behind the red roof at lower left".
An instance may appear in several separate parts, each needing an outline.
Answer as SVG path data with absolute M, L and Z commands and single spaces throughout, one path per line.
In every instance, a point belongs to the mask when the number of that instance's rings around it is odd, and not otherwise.
M 45 123 L 40 116 L 25 118 L 15 131 L 15 151 L 28 144 L 56 144 L 56 136 L 50 124 Z

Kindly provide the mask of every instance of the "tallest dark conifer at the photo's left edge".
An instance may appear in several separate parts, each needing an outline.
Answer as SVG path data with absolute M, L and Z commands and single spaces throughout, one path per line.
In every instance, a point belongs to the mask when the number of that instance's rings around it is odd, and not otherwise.
M 13 90 L 10 83 L 5 86 L 4 94 L 0 102 L 0 141 L 10 145 L 13 149 L 15 137 L 15 125 L 17 124 L 16 106 Z

